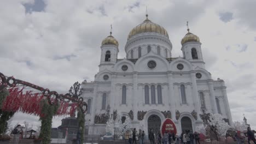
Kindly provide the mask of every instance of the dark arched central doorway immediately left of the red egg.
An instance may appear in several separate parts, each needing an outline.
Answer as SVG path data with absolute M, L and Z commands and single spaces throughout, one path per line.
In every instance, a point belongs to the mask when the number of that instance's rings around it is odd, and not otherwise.
M 150 129 L 153 129 L 153 133 L 157 134 L 161 127 L 161 119 L 159 116 L 151 115 L 148 118 L 148 134 Z

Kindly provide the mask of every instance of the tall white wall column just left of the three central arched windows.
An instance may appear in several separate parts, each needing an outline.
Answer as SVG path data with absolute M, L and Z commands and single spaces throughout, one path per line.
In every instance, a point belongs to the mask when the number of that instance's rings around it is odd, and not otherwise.
M 133 91 L 132 91 L 132 111 L 133 111 L 133 121 L 137 121 L 137 111 L 138 111 L 138 103 L 139 101 L 136 99 L 136 94 L 138 91 L 138 73 L 133 72 L 132 73 L 132 82 L 133 82 Z

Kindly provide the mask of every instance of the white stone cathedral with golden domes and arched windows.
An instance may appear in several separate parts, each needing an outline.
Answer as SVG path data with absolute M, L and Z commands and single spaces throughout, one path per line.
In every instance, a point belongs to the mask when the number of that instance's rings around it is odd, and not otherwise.
M 82 83 L 88 103 L 85 134 L 105 135 L 106 122 L 117 115 L 130 118 L 132 128 L 158 131 L 171 118 L 177 133 L 195 131 L 202 113 L 220 113 L 232 125 L 226 86 L 205 69 L 201 42 L 191 33 L 181 39 L 182 57 L 172 57 L 166 29 L 146 20 L 131 29 L 118 59 L 118 40 L 102 40 L 95 80 Z M 121 47 L 123 49 L 123 47 Z M 177 49 L 177 47 L 176 47 Z M 124 118 L 124 119 L 123 119 Z

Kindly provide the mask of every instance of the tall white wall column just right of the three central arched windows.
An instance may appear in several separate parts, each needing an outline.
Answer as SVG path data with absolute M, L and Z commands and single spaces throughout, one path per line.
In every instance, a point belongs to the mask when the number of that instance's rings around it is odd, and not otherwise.
M 175 107 L 175 98 L 174 98 L 174 89 L 173 89 L 173 77 L 172 77 L 172 72 L 168 71 L 167 72 L 167 77 L 168 77 L 168 103 L 167 105 L 170 106 L 170 110 L 171 110 L 171 115 L 172 115 L 172 121 L 176 122 L 176 117 L 175 117 L 175 113 L 176 113 L 176 107 Z

